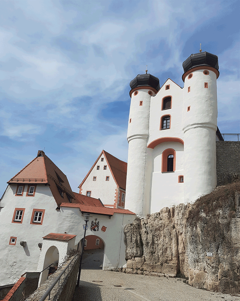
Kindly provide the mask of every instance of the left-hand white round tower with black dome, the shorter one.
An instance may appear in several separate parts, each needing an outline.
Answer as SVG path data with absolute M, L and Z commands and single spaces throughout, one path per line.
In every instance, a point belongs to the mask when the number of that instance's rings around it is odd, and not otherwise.
M 147 72 L 147 71 L 146 71 Z M 138 215 L 149 213 L 149 173 L 147 139 L 151 97 L 158 90 L 159 79 L 151 74 L 139 74 L 130 82 L 131 105 L 128 120 L 128 171 L 125 208 Z M 147 189 L 145 189 L 147 187 Z

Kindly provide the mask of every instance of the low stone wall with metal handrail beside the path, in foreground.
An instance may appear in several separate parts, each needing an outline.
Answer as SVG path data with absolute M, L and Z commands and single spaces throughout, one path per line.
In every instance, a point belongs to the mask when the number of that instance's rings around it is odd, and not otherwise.
M 75 256 L 75 255 L 74 255 Z M 70 264 L 69 269 L 66 270 L 65 275 L 63 274 L 60 278 L 60 283 L 55 285 L 50 294 L 50 300 L 53 301 L 72 301 L 73 294 L 76 288 L 76 279 L 78 274 L 79 262 L 81 255 L 79 254 Z M 58 275 L 64 270 L 70 260 L 62 265 L 55 273 L 49 276 L 49 278 L 37 289 L 35 292 L 30 295 L 28 298 L 24 299 L 25 301 L 32 301 L 40 299 L 48 288 L 52 285 Z M 48 298 L 47 298 L 48 299 Z

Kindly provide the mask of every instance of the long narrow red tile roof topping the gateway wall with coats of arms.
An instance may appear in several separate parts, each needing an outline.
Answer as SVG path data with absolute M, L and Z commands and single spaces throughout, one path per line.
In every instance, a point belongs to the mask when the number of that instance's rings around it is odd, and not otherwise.
M 95 213 L 102 215 L 110 215 L 113 216 L 114 213 L 123 213 L 123 214 L 135 214 L 128 209 L 116 209 L 116 208 L 108 208 L 108 207 L 97 207 L 83 204 L 73 204 L 73 203 L 61 203 L 61 207 L 74 207 L 79 208 L 81 212 L 86 213 Z

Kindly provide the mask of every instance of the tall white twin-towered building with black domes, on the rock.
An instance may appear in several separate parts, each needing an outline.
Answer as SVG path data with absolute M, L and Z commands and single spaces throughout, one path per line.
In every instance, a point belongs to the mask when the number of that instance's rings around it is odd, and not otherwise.
M 181 88 L 151 74 L 130 82 L 125 208 L 138 215 L 193 202 L 216 178 L 218 59 L 208 52 L 183 63 Z

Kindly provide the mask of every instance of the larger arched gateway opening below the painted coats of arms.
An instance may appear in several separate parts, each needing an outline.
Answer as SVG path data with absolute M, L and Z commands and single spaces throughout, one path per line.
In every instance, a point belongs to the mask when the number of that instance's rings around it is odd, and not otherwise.
M 83 238 L 80 241 L 82 247 Z M 85 236 L 84 253 L 82 255 L 82 269 L 99 270 L 103 269 L 105 253 L 104 241 L 96 235 Z

